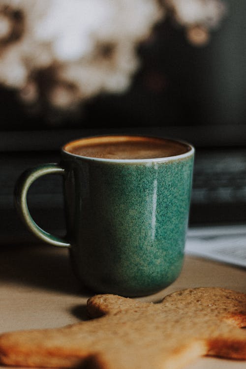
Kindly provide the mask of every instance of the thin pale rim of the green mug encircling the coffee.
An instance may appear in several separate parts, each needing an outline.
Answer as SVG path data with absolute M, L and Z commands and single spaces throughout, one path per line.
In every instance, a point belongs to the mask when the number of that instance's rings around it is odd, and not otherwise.
M 178 142 L 181 144 L 184 144 L 186 146 L 188 146 L 189 150 L 187 152 L 185 152 L 184 154 L 178 154 L 178 155 L 172 155 L 172 156 L 165 156 L 165 157 L 154 157 L 154 158 L 148 158 L 148 159 L 110 159 L 110 158 L 102 158 L 102 157 L 91 157 L 91 156 L 83 156 L 83 155 L 78 155 L 78 154 L 73 154 L 70 153 L 69 151 L 66 150 L 66 148 L 68 146 L 72 146 L 75 145 L 76 143 L 82 141 L 82 140 L 89 140 L 89 139 L 96 139 L 96 138 L 106 138 L 106 137 L 110 137 L 110 138 L 123 138 L 123 137 L 127 137 L 127 138 L 150 138 L 150 139 L 158 139 L 158 140 L 166 140 L 166 141 L 173 141 L 173 142 Z M 85 136 L 85 137 L 81 137 L 72 141 L 67 142 L 66 144 L 64 144 L 62 146 L 62 153 L 67 154 L 69 156 L 73 156 L 73 157 L 77 157 L 83 160 L 89 160 L 89 161 L 99 161 L 99 162 L 112 162 L 112 163 L 152 163 L 152 162 L 166 162 L 166 161 L 175 161 L 175 160 L 179 160 L 179 159 L 184 159 L 186 157 L 192 156 L 195 152 L 195 149 L 193 147 L 193 145 L 191 145 L 190 143 L 180 140 L 180 139 L 174 139 L 174 138 L 167 138 L 167 137 L 158 137 L 158 136 L 152 136 L 152 135 L 141 135 L 141 134 L 104 134 L 104 135 L 93 135 L 93 136 Z

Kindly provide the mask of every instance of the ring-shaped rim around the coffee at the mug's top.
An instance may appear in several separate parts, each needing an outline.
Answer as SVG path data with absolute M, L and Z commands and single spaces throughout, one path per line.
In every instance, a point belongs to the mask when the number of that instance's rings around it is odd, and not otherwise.
M 188 151 L 185 152 L 184 154 L 178 154 L 178 155 L 173 155 L 173 156 L 166 156 L 166 157 L 155 157 L 155 158 L 149 158 L 149 159 L 109 159 L 109 158 L 102 158 L 102 157 L 91 157 L 91 156 L 83 156 L 83 155 L 78 155 L 78 154 L 73 154 L 70 153 L 69 151 L 67 151 L 67 149 L 69 147 L 74 147 L 77 146 L 79 144 L 79 142 L 81 141 L 94 141 L 96 139 L 105 139 L 105 142 L 109 142 L 110 140 L 115 140 L 116 138 L 120 141 L 124 141 L 127 140 L 129 138 L 131 139 L 136 139 L 136 140 L 142 140 L 142 139 L 153 139 L 153 140 L 164 140 L 164 141 L 170 141 L 170 142 L 178 142 L 182 145 L 187 146 Z M 107 141 L 106 141 L 107 139 Z M 87 137 L 81 137 L 77 140 L 73 140 L 70 141 L 68 143 L 66 143 L 64 146 L 62 146 L 62 152 L 64 154 L 67 155 L 71 155 L 74 157 L 78 157 L 81 159 L 88 159 L 90 161 L 101 161 L 101 162 L 114 162 L 114 163 L 148 163 L 148 162 L 163 162 L 163 161 L 170 161 L 170 160 L 179 160 L 179 159 L 184 159 L 186 157 L 192 156 L 195 152 L 194 147 L 183 141 L 183 140 L 179 140 L 179 139 L 170 139 L 170 138 L 164 138 L 164 137 L 156 137 L 156 136 L 146 136 L 146 135 L 130 135 L 130 134 L 126 134 L 126 135 L 121 135 L 121 134 L 117 134 L 117 135 L 113 135 L 113 134 L 108 134 L 108 135 L 98 135 L 98 136 L 87 136 Z

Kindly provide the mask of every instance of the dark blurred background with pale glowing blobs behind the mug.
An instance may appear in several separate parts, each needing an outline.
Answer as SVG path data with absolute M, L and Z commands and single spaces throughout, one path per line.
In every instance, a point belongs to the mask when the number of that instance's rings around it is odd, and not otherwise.
M 191 142 L 190 227 L 244 224 L 245 19 L 244 0 L 0 0 L 0 243 L 34 240 L 13 205 L 19 175 L 105 133 Z M 64 232 L 59 176 L 28 201 Z

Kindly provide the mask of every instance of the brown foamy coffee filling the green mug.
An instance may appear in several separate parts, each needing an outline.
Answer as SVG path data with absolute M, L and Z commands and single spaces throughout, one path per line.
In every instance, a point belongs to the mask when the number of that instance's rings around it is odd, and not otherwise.
M 185 143 L 154 137 L 101 136 L 74 141 L 64 150 L 79 156 L 104 159 L 152 159 L 185 154 Z

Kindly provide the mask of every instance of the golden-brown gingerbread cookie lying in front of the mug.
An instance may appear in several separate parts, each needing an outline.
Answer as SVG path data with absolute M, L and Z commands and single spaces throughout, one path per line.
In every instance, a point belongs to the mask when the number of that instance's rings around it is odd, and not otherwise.
M 0 363 L 84 369 L 176 369 L 203 355 L 246 359 L 246 294 L 175 292 L 161 303 L 115 295 L 88 300 L 94 319 L 60 329 L 5 333 Z

